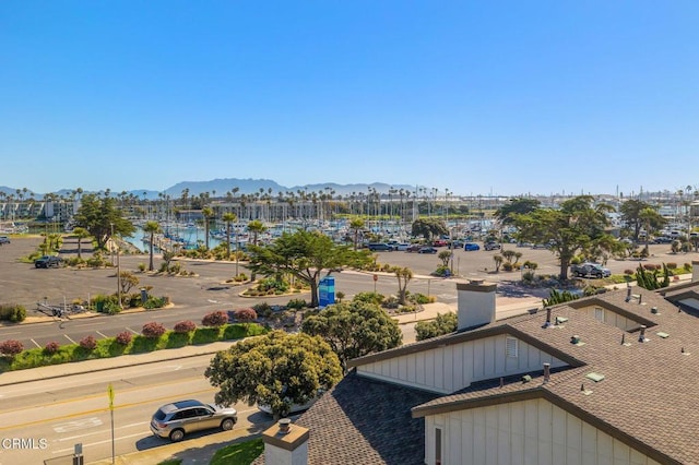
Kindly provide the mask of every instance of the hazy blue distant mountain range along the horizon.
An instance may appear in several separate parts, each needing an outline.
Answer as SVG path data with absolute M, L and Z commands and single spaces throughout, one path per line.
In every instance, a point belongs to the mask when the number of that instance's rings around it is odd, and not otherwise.
M 355 193 L 359 193 L 359 192 L 368 192 L 369 189 L 375 189 L 377 192 L 382 193 L 382 194 L 388 194 L 390 189 L 395 189 L 395 190 L 401 190 L 403 189 L 404 191 L 410 191 L 410 192 L 414 192 L 416 187 L 415 186 L 407 186 L 407 184 L 387 184 L 384 182 L 372 182 L 370 184 L 365 184 L 365 183 L 355 183 L 355 184 L 337 184 L 334 182 L 325 182 L 325 183 L 318 183 L 318 184 L 305 184 L 305 186 L 294 186 L 294 187 L 286 187 L 286 186 L 282 186 L 279 184 L 277 182 L 271 180 L 271 179 L 237 179 L 237 178 L 226 178 L 226 179 L 213 179 L 211 181 L 183 181 L 183 182 L 178 182 L 177 184 L 165 189 L 164 191 L 154 191 L 151 189 L 137 189 L 137 190 L 130 190 L 130 191 L 126 191 L 127 194 L 133 194 L 135 196 L 138 196 L 139 199 L 149 199 L 149 200 L 156 200 L 158 199 L 158 195 L 164 193 L 167 195 L 170 195 L 171 198 L 179 198 L 182 194 L 182 191 L 185 189 L 189 189 L 189 195 L 200 195 L 204 192 L 209 192 L 209 194 L 212 198 L 223 198 L 226 196 L 226 192 L 232 191 L 233 189 L 238 188 L 238 191 L 236 192 L 236 195 L 240 195 L 240 194 L 253 194 L 256 192 L 260 192 L 260 189 L 263 192 L 272 192 L 272 195 L 276 196 L 279 192 L 298 192 L 298 191 L 306 191 L 306 192 L 323 192 L 325 193 L 325 191 L 332 190 L 335 191 L 334 195 L 350 195 L 353 192 Z M 24 199 L 28 199 L 31 196 L 31 193 L 33 191 L 27 190 L 26 192 L 23 192 L 23 189 L 20 189 L 20 191 L 22 192 L 22 195 Z M 78 189 L 78 188 L 75 188 Z M 57 195 L 64 195 L 68 196 L 71 194 L 71 192 L 73 192 L 75 189 L 61 189 L 60 191 L 57 192 L 52 192 Z M 14 195 L 15 199 L 17 196 L 17 188 L 9 188 L 5 186 L 0 186 L 0 192 L 4 192 L 8 195 Z M 84 191 L 83 193 L 90 193 L 91 191 Z M 118 190 L 116 188 L 111 189 L 111 194 L 112 195 L 117 195 L 120 194 L 121 190 Z M 46 194 L 48 192 L 43 192 L 43 193 L 37 193 L 34 192 L 34 199 L 36 200 L 40 200 L 44 198 L 44 194 Z

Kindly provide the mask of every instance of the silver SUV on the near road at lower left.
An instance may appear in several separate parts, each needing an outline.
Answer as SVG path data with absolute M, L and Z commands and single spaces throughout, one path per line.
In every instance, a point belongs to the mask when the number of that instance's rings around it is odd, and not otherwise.
M 238 413 L 233 407 L 203 404 L 199 401 L 180 401 L 163 405 L 153 414 L 151 431 L 173 442 L 185 439 L 185 434 L 203 429 L 233 429 Z

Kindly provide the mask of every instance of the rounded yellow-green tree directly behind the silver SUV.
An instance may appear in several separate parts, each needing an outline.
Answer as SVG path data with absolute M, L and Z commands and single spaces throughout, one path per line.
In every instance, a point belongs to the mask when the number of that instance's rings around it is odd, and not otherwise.
M 220 390 L 217 404 L 264 404 L 280 417 L 337 383 L 342 367 L 322 338 L 274 331 L 220 351 L 204 375 Z

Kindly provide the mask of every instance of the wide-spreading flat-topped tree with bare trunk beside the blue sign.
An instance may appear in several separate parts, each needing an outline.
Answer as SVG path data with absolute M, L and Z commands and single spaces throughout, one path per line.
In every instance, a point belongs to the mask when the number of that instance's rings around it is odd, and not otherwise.
M 307 230 L 283 233 L 271 245 L 250 246 L 249 253 L 251 271 L 265 276 L 288 273 L 310 286 L 310 307 L 313 308 L 318 307 L 318 286 L 324 270 L 329 275 L 336 267 L 363 266 L 371 262 L 367 250 L 353 251 L 323 234 Z

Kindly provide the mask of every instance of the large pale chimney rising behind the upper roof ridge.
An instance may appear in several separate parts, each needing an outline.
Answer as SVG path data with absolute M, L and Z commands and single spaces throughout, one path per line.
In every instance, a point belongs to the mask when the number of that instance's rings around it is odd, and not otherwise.
M 457 331 L 482 326 L 495 321 L 495 293 L 497 284 L 483 279 L 457 282 Z

